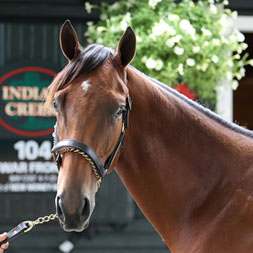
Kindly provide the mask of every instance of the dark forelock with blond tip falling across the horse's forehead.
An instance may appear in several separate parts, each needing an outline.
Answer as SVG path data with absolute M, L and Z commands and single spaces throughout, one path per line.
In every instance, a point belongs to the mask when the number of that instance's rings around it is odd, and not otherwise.
M 52 104 L 55 92 L 67 87 L 80 75 L 101 66 L 112 54 L 112 49 L 98 44 L 91 44 L 83 50 L 57 74 L 49 86 L 46 107 Z

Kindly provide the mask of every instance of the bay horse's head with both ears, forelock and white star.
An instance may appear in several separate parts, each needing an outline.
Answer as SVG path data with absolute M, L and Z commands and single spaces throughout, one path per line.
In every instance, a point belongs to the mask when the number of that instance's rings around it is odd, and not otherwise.
M 129 107 L 126 67 L 135 45 L 129 27 L 115 52 L 96 44 L 83 50 L 71 23 L 61 28 L 60 46 L 68 64 L 50 85 L 46 103 L 56 110 L 56 210 L 66 231 L 88 226 L 98 185 L 119 158 Z

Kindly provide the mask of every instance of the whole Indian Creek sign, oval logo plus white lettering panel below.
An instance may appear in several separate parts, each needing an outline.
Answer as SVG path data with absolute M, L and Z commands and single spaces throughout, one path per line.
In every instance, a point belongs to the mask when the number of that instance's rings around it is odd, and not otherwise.
M 0 75 L 0 192 L 56 191 L 52 162 L 53 109 L 44 109 L 56 73 L 21 67 Z M 15 136 L 7 138 L 6 135 Z

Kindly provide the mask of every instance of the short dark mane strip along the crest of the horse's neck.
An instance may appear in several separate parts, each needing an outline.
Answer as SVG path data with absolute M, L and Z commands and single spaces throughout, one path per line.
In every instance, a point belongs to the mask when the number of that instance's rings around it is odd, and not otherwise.
M 237 132 L 240 134 L 243 134 L 247 137 L 253 138 L 253 131 L 248 130 L 242 126 L 238 126 L 235 123 L 229 122 L 225 119 L 223 119 L 220 115 L 214 113 L 213 111 L 211 111 L 210 109 L 202 106 L 199 103 L 194 102 L 193 100 L 187 98 L 186 96 L 182 95 L 181 93 L 179 93 L 177 90 L 169 87 L 168 85 L 152 78 L 149 77 L 147 75 L 145 75 L 144 73 L 142 73 L 141 71 L 139 71 L 138 69 L 134 68 L 131 66 L 131 68 L 133 68 L 135 71 L 137 71 L 138 73 L 140 73 L 142 76 L 146 77 L 147 79 L 149 79 L 154 85 L 158 86 L 160 89 L 162 89 L 165 92 L 169 92 L 172 93 L 174 96 L 180 98 L 181 100 L 183 100 L 184 102 L 186 102 L 188 105 L 194 107 L 195 109 L 197 109 L 199 112 L 204 113 L 205 115 L 207 115 L 209 118 L 215 120 L 216 122 L 220 123 L 221 125 Z

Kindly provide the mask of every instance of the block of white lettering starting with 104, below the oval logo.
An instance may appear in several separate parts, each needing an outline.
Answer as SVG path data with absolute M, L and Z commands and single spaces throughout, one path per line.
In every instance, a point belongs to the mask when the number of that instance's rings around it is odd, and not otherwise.
M 13 144 L 17 161 L 0 160 L 0 192 L 54 192 L 58 168 L 51 160 L 51 142 L 19 140 Z

